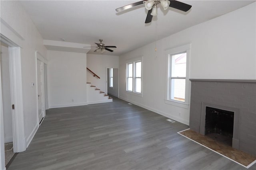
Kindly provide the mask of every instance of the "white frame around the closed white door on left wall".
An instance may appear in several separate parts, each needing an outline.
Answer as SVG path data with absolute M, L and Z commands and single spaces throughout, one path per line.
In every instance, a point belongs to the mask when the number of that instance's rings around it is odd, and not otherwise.
M 47 70 L 45 70 L 45 68 L 46 68 L 46 66 L 47 66 L 47 64 L 48 64 L 48 61 L 46 60 L 46 59 L 44 59 L 44 57 L 41 55 L 41 53 L 39 52 L 39 51 L 36 51 L 36 53 L 35 53 L 35 55 L 36 55 L 36 108 L 37 108 L 37 115 L 39 114 L 38 113 L 38 86 L 37 86 L 37 84 L 38 84 L 38 82 L 37 82 L 37 61 L 39 60 L 39 61 L 41 61 L 42 62 L 42 76 L 43 76 L 43 82 L 42 82 L 42 103 L 43 103 L 43 119 L 42 119 L 42 121 L 44 120 L 44 117 L 45 117 L 45 110 L 46 110 L 46 101 L 48 101 L 48 100 L 46 100 L 46 97 L 47 97 L 47 88 L 46 88 L 46 73 L 47 73 Z M 47 104 L 48 105 L 48 104 Z M 41 123 L 42 123 L 42 121 L 41 121 Z M 38 121 L 37 121 L 37 124 L 38 124 L 38 126 L 39 125 L 41 125 L 40 124 L 40 121 L 39 121 L 39 119 L 38 119 Z

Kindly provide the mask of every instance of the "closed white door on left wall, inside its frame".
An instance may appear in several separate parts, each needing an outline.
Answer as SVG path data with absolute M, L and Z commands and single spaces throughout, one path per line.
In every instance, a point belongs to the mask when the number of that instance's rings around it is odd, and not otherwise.
M 37 94 L 38 94 L 38 120 L 39 125 L 42 123 L 44 117 L 43 104 L 43 62 L 37 60 Z

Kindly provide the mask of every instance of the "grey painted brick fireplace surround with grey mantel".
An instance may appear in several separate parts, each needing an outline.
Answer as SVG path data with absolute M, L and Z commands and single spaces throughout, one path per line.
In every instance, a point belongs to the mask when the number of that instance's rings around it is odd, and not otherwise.
M 256 156 L 256 80 L 190 81 L 190 129 L 204 133 L 200 126 L 207 105 L 234 110 L 238 115 L 234 120 L 235 148 Z

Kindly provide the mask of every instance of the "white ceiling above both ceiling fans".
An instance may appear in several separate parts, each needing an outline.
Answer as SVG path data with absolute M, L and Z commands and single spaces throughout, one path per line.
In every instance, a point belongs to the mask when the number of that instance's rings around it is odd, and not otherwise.
M 145 24 L 147 10 L 144 5 L 117 13 L 116 8 L 139 0 L 80 0 L 80 1 L 19 1 L 38 28 L 43 39 L 90 44 L 103 39 L 105 45 L 116 45 L 114 52 L 104 55 L 121 55 L 157 39 L 202 23 L 255 0 L 180 0 L 192 5 L 188 12 L 174 8 L 162 10 Z M 157 33 L 157 34 L 156 34 Z M 88 53 L 93 52 L 92 48 Z

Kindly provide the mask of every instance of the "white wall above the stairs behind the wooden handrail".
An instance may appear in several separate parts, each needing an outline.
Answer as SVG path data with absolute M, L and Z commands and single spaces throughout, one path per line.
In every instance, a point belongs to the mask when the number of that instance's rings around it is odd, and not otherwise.
M 105 53 L 107 53 L 106 51 Z M 94 55 L 87 54 L 87 67 L 97 74 L 99 78 L 94 77 L 93 74 L 87 71 L 87 82 L 92 83 L 97 88 L 106 92 L 106 82 L 107 82 L 107 68 L 118 68 L 119 57 L 111 55 Z

